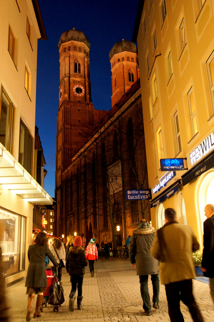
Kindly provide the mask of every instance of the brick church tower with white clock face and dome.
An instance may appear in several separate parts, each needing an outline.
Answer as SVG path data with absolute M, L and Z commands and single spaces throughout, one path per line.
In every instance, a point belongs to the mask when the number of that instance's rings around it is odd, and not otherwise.
M 75 28 L 68 30 L 62 33 L 58 49 L 60 52 L 60 86 L 55 172 L 58 223 L 55 233 L 60 235 L 61 175 L 107 111 L 94 109 L 94 104 L 92 104 L 89 66 L 90 42 L 86 35 Z

